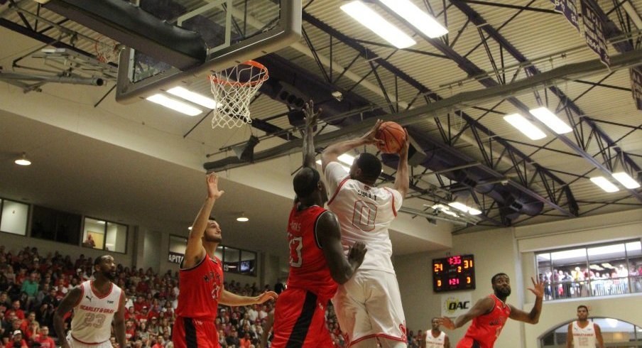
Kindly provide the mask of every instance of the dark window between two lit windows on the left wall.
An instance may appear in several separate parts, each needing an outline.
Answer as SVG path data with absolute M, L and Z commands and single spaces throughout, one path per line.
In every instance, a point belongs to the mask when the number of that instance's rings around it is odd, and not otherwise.
M 33 206 L 31 236 L 78 245 L 82 217 L 50 208 Z

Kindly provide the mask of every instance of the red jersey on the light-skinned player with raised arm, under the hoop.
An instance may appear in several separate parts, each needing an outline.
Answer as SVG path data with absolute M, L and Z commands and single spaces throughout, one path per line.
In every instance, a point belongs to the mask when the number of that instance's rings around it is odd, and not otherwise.
M 211 259 L 205 255 L 196 266 L 180 269 L 177 316 L 214 322 L 219 298 L 223 292 L 221 264 L 217 257 Z

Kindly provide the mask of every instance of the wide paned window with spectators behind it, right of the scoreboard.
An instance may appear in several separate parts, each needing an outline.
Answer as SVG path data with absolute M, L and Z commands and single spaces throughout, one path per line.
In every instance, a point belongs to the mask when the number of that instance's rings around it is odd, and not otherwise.
M 642 244 L 626 241 L 535 255 L 544 300 L 642 293 Z

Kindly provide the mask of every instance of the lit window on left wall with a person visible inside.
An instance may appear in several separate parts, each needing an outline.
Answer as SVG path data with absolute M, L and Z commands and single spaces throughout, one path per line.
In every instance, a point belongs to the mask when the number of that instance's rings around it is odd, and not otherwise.
M 93 249 L 126 252 L 127 226 L 85 217 L 82 246 Z

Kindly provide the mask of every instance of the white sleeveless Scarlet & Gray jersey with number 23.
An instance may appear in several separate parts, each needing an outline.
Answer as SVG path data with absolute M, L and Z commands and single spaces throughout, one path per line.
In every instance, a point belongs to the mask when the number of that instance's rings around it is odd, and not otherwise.
M 93 281 L 80 285 L 80 301 L 74 307 L 70 336 L 82 344 L 99 344 L 109 341 L 111 321 L 122 300 L 122 290 L 111 283 L 109 293 L 99 295 Z

